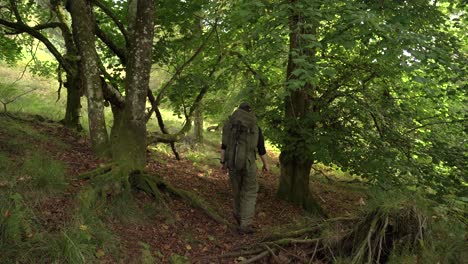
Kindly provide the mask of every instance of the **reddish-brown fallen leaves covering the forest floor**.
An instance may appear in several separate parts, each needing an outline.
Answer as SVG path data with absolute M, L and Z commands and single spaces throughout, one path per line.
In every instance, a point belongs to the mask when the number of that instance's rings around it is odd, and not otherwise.
M 102 161 L 94 158 L 89 140 L 83 136 L 61 126 L 50 126 L 38 121 L 30 121 L 30 125 L 68 146 L 64 149 L 45 142 L 29 142 L 67 164 L 70 184 L 65 192 L 45 199 L 36 208 L 42 224 L 48 231 L 53 232 L 69 223 L 76 207 L 75 197 L 81 187 L 88 184 L 79 180 L 77 176 L 99 167 Z M 148 173 L 163 176 L 173 186 L 203 197 L 221 216 L 234 224 L 228 176 L 219 168 L 210 168 L 210 175 L 206 177 L 205 172 L 197 169 L 189 160 L 176 161 L 165 154 L 152 156 L 146 168 Z M 153 256 L 161 262 L 169 262 L 172 256 L 186 256 L 193 263 L 233 263 L 239 257 L 216 259 L 216 256 L 245 248 L 260 241 L 269 230 L 294 224 L 304 217 L 301 209 L 276 198 L 278 175 L 260 173 L 258 179 L 260 190 L 254 218 L 258 232 L 254 235 L 239 235 L 235 230 L 218 224 L 201 210 L 175 197 L 166 199 L 169 201 L 171 221 L 168 221 L 167 214 L 155 214 L 154 217 L 131 224 L 118 219 L 108 219 L 107 225 L 119 237 L 120 251 L 127 260 L 141 260 L 144 243 L 147 245 L 146 249 L 149 248 Z M 4 182 L 0 183 L 1 186 L 6 185 Z M 323 187 L 317 185 L 313 187 L 313 192 L 321 197 L 322 204 L 328 212 L 333 212 L 332 215 L 346 215 L 348 210 L 358 207 L 360 194 L 350 196 L 341 193 L 345 198 L 340 199 L 346 201 L 340 207 L 336 205 L 336 192 Z M 135 197 L 142 208 L 146 204 L 154 203 L 152 198 L 142 193 L 136 194 Z M 98 251 L 96 255 L 103 257 L 102 253 Z

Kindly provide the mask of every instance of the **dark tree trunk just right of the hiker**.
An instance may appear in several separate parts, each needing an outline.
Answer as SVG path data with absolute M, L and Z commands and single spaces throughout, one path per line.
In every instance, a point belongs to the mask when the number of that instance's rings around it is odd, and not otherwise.
M 291 0 L 290 2 L 294 5 L 297 1 Z M 303 21 L 301 21 L 300 15 L 297 13 L 290 15 L 289 58 L 286 77 L 288 84 L 300 78 L 293 74 L 295 69 L 301 67 L 294 62 L 293 53 L 305 55 L 309 63 L 313 63 L 314 59 L 314 50 L 304 48 L 305 43 L 301 43 L 302 34 L 312 33 L 310 29 L 301 27 L 302 24 Z M 284 102 L 286 135 L 280 154 L 281 175 L 278 197 L 299 205 L 312 213 L 320 214 L 322 210 L 311 196 L 309 188 L 309 174 L 314 159 L 310 154 L 304 153 L 306 143 L 301 139 L 306 135 L 300 133 L 304 129 L 304 125 L 307 124 L 304 119 L 313 111 L 312 97 L 310 96 L 313 89 L 314 87 L 310 82 L 306 82 L 299 89 L 286 87 L 289 95 Z M 307 129 L 313 131 L 314 127 L 309 126 Z

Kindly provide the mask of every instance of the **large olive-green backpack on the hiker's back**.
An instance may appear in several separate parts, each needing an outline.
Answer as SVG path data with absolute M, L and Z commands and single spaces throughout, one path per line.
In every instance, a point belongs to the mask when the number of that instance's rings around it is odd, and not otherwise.
M 257 118 L 251 112 L 237 109 L 223 126 L 222 142 L 226 146 L 224 160 L 235 170 L 247 168 L 248 160 L 255 159 L 258 144 Z

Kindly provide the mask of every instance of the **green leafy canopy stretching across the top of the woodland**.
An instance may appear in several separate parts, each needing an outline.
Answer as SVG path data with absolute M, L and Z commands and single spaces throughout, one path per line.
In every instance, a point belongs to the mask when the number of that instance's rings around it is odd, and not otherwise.
M 125 78 L 134 71 L 129 10 L 135 2 L 86 1 L 90 20 L 77 17 L 95 35 L 95 89 L 102 89 L 114 118 L 133 89 Z M 82 26 L 71 28 L 68 5 L 2 1 L 1 59 L 18 60 L 36 39 L 67 80 L 81 76 L 76 82 L 83 83 L 89 70 L 79 54 Z M 156 1 L 151 64 L 168 77 L 161 87 L 148 87 L 152 107 L 145 118 L 155 112 L 162 131 L 149 142 L 183 138 L 202 100 L 205 115 L 219 122 L 248 101 L 283 158 L 306 162 L 297 165 L 303 177 L 321 162 L 383 188 L 461 195 L 465 7 L 464 1 L 427 0 Z M 42 67 L 52 73 L 57 66 Z M 178 132 L 164 128 L 161 104 L 186 117 Z M 144 101 L 139 105 L 141 115 Z

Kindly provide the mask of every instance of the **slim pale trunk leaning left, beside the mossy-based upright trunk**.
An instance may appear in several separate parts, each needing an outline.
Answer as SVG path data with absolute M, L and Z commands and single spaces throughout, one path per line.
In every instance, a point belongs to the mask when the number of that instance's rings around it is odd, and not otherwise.
M 95 47 L 94 18 L 85 0 L 68 1 L 68 8 L 72 17 L 73 36 L 80 55 L 81 80 L 88 99 L 91 145 L 98 156 L 106 157 L 109 154 L 109 139 Z

